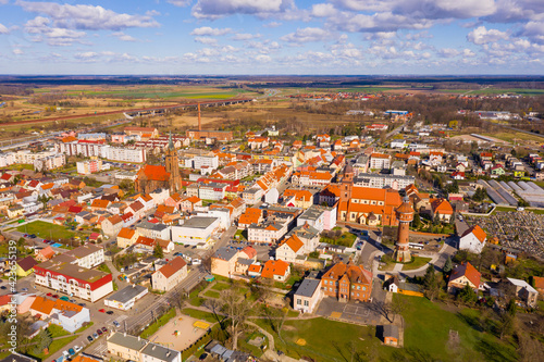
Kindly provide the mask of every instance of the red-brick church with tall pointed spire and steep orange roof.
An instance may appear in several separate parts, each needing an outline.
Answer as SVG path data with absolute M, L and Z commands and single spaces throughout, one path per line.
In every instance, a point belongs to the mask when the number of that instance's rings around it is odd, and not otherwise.
M 182 189 L 182 176 L 172 135 L 164 163 L 165 166 L 146 164 L 138 171 L 135 182 L 137 192 L 149 194 L 158 188 L 168 188 L 170 192 L 176 192 Z

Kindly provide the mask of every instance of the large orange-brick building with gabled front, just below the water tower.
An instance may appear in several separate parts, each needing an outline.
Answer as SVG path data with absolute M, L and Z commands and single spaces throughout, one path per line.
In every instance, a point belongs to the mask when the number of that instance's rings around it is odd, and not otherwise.
M 372 292 L 372 273 L 362 265 L 338 262 L 322 276 L 323 292 L 339 301 L 369 301 Z

